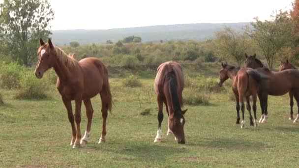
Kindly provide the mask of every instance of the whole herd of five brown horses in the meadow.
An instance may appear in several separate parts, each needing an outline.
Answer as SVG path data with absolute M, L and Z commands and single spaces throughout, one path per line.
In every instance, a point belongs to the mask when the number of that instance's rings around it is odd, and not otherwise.
M 90 138 L 91 121 L 93 109 L 90 99 L 100 94 L 102 101 L 103 126 L 98 143 L 105 143 L 106 120 L 108 111 L 112 109 L 112 95 L 108 81 L 108 69 L 98 58 L 88 57 L 77 61 L 72 56 L 66 55 L 59 47 L 53 45 L 48 39 L 45 43 L 40 38 L 38 49 L 38 62 L 35 68 L 35 76 L 42 78 L 43 74 L 50 68 L 54 68 L 58 75 L 56 86 L 60 92 L 63 104 L 67 110 L 68 119 L 72 127 L 71 145 L 73 148 L 86 144 Z M 259 122 L 266 122 L 268 118 L 268 95 L 283 95 L 289 92 L 290 95 L 290 119 L 293 118 L 293 97 L 299 106 L 299 71 L 288 62 L 282 62 L 279 72 L 271 72 L 255 55 L 247 56 L 245 67 L 239 68 L 227 63 L 221 63 L 218 84 L 221 86 L 228 78 L 232 79 L 232 89 L 236 97 L 237 124 L 239 124 L 239 110 L 242 112 L 241 128 L 245 127 L 244 102 L 246 98 L 247 110 L 250 114 L 250 125 L 258 126 L 256 116 L 257 96 L 260 100 L 262 117 Z M 182 91 L 184 88 L 183 71 L 179 63 L 168 61 L 157 68 L 154 81 L 154 90 L 158 103 L 158 131 L 154 142 L 161 141 L 161 123 L 163 121 L 163 104 L 166 106 L 168 114 L 167 135 L 173 134 L 178 143 L 185 143 L 184 136 L 184 114 L 187 110 L 182 110 Z M 254 121 L 251 115 L 249 97 L 252 96 Z M 75 100 L 75 112 L 73 114 L 71 101 Z M 82 100 L 86 107 L 87 129 L 82 138 L 81 105 Z M 294 120 L 297 122 L 299 115 Z M 76 123 L 76 125 L 75 125 Z

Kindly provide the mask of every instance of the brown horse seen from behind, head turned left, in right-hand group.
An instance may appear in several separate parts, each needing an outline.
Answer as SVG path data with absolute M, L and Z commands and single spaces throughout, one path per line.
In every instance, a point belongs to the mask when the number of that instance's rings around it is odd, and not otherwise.
M 264 80 L 262 76 L 254 71 L 251 68 L 240 68 L 235 67 L 232 65 L 228 65 L 227 63 L 221 63 L 221 70 L 219 72 L 219 78 L 217 84 L 219 86 L 222 86 L 222 84 L 227 80 L 231 79 L 233 81 L 232 89 L 235 94 L 236 98 L 236 110 L 237 110 L 237 121 L 236 124 L 239 124 L 240 120 L 240 105 L 241 105 L 241 111 L 242 111 L 242 122 L 241 122 L 241 128 L 245 128 L 245 120 L 244 120 L 244 102 L 243 98 L 246 98 L 247 102 L 247 111 L 249 112 L 249 118 L 250 118 L 250 125 L 258 127 L 258 121 L 256 117 L 256 100 L 257 100 L 257 90 L 258 90 L 258 84 Z M 250 96 L 252 96 L 252 109 L 254 112 L 254 123 L 252 121 L 252 115 L 251 115 L 251 106 L 250 106 Z

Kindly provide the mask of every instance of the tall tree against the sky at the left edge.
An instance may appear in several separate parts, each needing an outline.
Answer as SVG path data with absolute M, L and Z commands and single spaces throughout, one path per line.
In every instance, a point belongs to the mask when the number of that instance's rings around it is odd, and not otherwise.
M 0 4 L 0 40 L 11 55 L 29 66 L 36 57 L 39 38 L 47 38 L 54 12 L 47 0 L 3 0 Z

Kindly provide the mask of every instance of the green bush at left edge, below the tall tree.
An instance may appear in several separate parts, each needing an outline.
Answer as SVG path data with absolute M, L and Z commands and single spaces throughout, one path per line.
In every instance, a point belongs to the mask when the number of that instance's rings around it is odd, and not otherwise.
M 0 86 L 5 89 L 19 88 L 24 67 L 17 62 L 0 64 Z

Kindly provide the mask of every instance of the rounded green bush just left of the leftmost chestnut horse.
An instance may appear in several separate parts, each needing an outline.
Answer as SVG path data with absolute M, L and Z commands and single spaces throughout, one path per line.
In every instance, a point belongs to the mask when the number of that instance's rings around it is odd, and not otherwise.
M 26 74 L 21 79 L 21 90 L 15 96 L 16 99 L 45 99 L 49 96 L 47 82 L 43 79 L 37 79 L 31 74 Z

